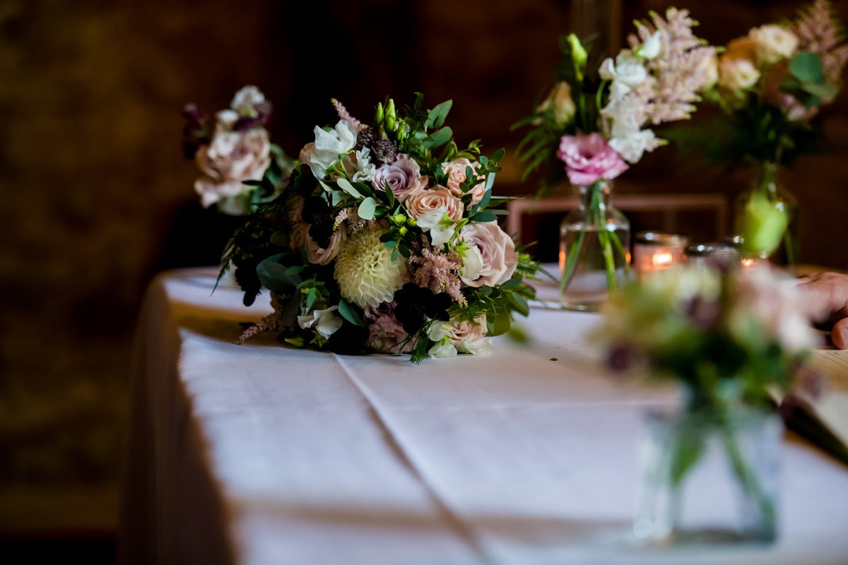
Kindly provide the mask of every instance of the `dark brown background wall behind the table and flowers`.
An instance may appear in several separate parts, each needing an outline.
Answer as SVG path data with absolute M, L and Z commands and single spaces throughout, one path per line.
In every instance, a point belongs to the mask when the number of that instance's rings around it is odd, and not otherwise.
M 712 42 L 799 5 L 678 2 Z M 848 19 L 848 2 L 836 5 Z M 664 3 L 625 2 L 622 21 L 647 8 Z M 315 124 L 333 120 L 330 97 L 368 116 L 385 95 L 420 90 L 454 99 L 460 141 L 510 152 L 520 134 L 509 126 L 550 80 L 569 10 L 555 0 L 0 0 L 0 532 L 49 522 L 66 487 L 87 493 L 89 513 L 102 508 L 66 522 L 114 523 L 142 292 L 160 267 L 217 252 L 204 246 L 215 219 L 198 212 L 195 169 L 181 156 L 185 102 L 214 111 L 256 84 L 276 104 L 273 139 L 297 155 Z M 833 147 L 787 175 L 801 260 L 840 269 L 846 125 L 843 94 L 827 117 Z M 499 190 L 532 191 L 519 174 L 511 163 Z M 745 179 L 692 169 L 664 148 L 628 173 L 626 190 L 733 197 Z

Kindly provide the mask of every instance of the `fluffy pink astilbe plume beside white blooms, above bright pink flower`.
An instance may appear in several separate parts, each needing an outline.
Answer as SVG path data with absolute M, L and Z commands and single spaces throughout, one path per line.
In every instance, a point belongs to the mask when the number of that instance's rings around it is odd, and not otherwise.
M 651 12 L 650 19 L 650 23 L 637 22 L 638 36 L 628 37 L 635 49 L 655 31 L 660 32 L 660 54 L 645 65 L 651 76 L 633 89 L 633 94 L 644 102 L 644 116 L 638 118 L 644 117 L 644 121 L 654 125 L 689 119 L 695 112 L 695 102 L 700 101 L 698 92 L 705 86 L 703 69 L 716 50 L 692 32 L 698 24 L 689 17 L 688 10 L 668 8 L 666 19 Z

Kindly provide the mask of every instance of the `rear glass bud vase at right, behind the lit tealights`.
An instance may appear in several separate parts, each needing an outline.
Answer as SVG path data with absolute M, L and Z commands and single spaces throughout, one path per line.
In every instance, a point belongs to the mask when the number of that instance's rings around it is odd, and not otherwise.
M 742 219 L 745 216 L 745 208 L 751 197 L 757 193 L 767 197 L 768 202 L 772 203 L 775 209 L 784 213 L 788 220 L 787 229 L 778 246 L 771 252 L 763 252 L 756 257 L 748 258 L 749 263 L 769 259 L 772 263 L 778 265 L 794 267 L 798 262 L 798 222 L 795 214 L 798 201 L 784 186 L 781 172 L 782 169 L 773 161 L 757 161 L 754 163 L 754 179 L 750 189 L 743 191 L 735 202 L 737 233 L 742 233 Z

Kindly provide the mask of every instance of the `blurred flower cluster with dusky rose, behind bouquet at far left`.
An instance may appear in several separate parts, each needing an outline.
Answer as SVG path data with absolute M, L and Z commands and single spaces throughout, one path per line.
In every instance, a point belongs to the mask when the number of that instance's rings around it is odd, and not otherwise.
M 182 147 L 202 173 L 194 190 L 204 208 L 214 204 L 222 213 L 242 216 L 279 193 L 293 161 L 271 143 L 265 130 L 271 102 L 256 86 L 237 91 L 214 123 L 194 104 L 184 108 L 183 117 Z

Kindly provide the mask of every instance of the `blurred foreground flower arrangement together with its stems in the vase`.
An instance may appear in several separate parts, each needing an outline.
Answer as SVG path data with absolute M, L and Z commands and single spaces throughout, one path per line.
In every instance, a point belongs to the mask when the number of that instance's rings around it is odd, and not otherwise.
M 745 506 L 742 529 L 760 540 L 777 533 L 774 468 L 761 457 L 779 434 L 773 394 L 798 385 L 815 391 L 812 372 L 802 371 L 816 340 L 795 292 L 767 266 L 668 269 L 633 281 L 605 305 L 605 323 L 594 338 L 605 344 L 615 370 L 643 368 L 656 379 L 682 386 L 677 413 L 649 413 L 661 455 L 645 468 L 651 485 L 645 516 L 657 534 L 668 535 L 685 502 L 683 485 L 711 445 L 728 463 L 734 492 Z M 777 389 L 775 391 L 774 389 Z M 776 446 L 775 446 L 776 449 Z M 766 456 L 767 457 L 767 456 Z M 661 496 L 668 496 L 662 506 Z M 657 508 L 667 507 L 667 516 Z

